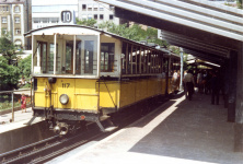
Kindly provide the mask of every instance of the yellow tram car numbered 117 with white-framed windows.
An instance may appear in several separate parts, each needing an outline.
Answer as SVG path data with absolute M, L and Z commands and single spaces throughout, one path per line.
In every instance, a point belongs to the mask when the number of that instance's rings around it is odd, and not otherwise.
M 178 56 L 97 28 L 55 25 L 25 37 L 32 38 L 34 117 L 61 134 L 80 121 L 104 131 L 101 117 L 170 94 L 169 72 L 178 70 Z

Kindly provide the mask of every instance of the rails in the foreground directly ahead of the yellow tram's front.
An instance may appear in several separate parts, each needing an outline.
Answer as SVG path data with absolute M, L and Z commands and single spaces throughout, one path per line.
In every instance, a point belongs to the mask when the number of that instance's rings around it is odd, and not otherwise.
M 38 164 L 61 155 L 77 147 L 80 147 L 103 133 L 93 128 L 83 130 L 74 136 L 55 136 L 39 142 L 19 148 L 16 150 L 0 154 L 2 164 L 32 163 Z

